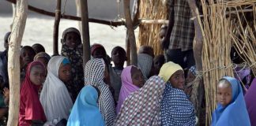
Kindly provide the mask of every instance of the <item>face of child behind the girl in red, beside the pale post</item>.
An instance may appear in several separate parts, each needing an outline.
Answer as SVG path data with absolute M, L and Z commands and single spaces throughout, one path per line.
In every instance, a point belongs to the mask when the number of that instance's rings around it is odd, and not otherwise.
M 28 65 L 30 62 L 33 61 L 35 54 L 29 50 L 22 50 L 21 51 L 21 60 L 23 65 Z

